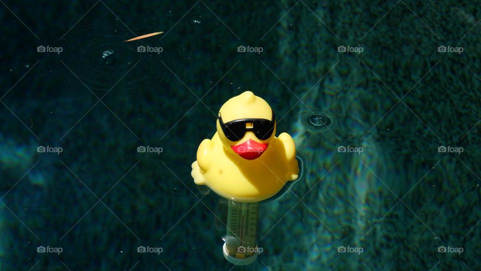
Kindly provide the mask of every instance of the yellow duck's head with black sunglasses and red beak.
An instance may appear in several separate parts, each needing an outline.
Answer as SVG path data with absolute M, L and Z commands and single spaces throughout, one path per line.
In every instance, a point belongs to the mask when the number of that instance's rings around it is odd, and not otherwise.
M 264 99 L 246 91 L 222 105 L 217 134 L 228 152 L 248 160 L 259 158 L 276 136 L 274 111 Z

